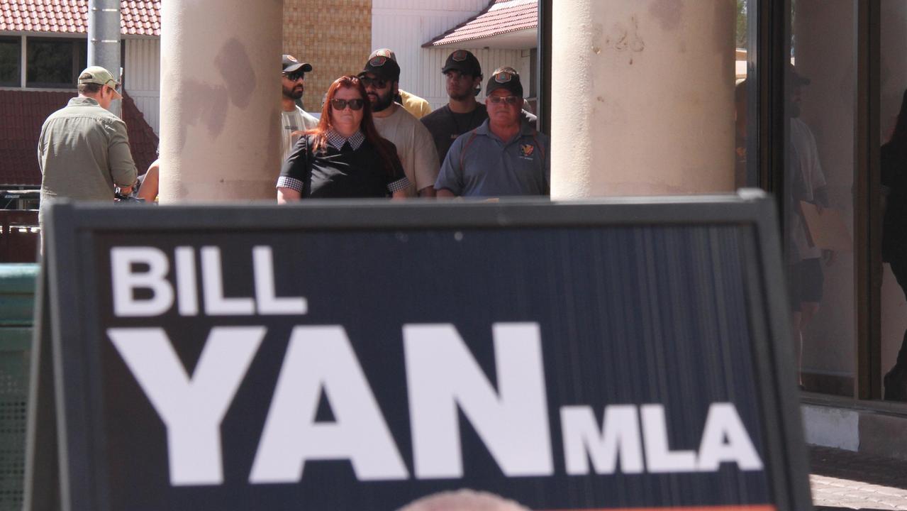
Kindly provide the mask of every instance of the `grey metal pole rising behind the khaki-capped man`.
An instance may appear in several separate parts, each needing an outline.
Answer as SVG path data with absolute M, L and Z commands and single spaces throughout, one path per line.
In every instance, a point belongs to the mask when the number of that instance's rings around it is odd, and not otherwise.
M 88 65 L 100 65 L 122 82 L 120 0 L 88 0 Z M 120 115 L 120 102 L 110 111 Z

